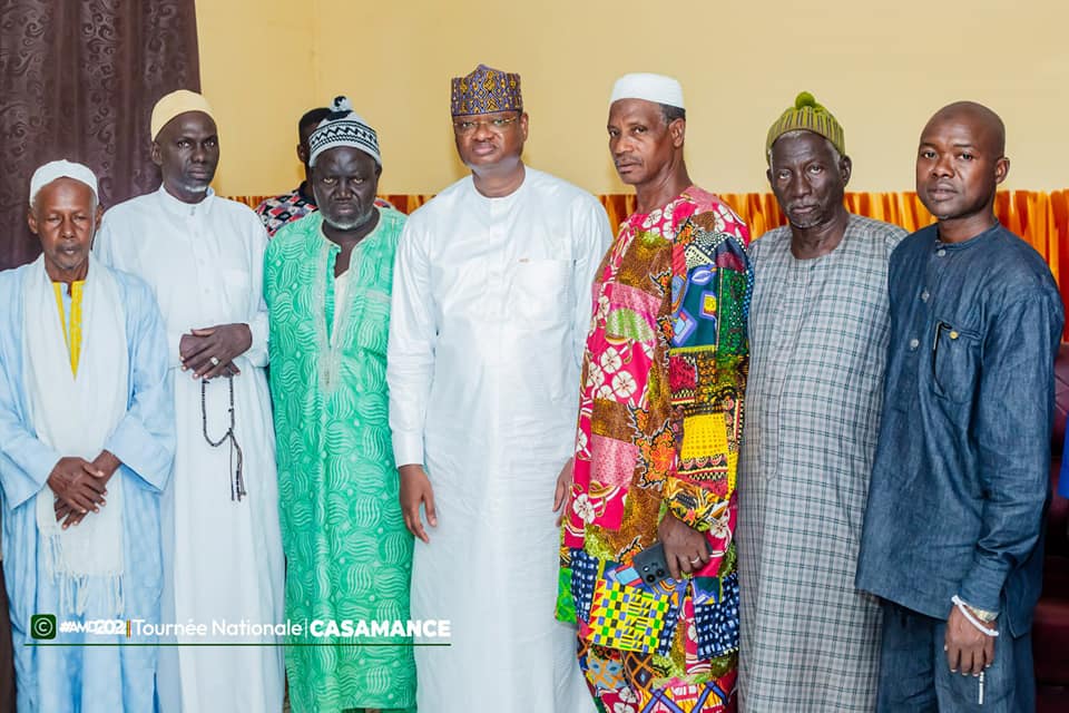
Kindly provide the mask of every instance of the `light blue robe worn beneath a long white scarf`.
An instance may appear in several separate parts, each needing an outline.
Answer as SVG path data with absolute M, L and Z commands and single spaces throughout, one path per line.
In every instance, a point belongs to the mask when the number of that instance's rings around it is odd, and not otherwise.
M 22 384 L 23 280 L 33 265 L 0 272 L 0 489 L 3 504 L 3 573 L 11 611 L 20 712 L 116 713 L 156 710 L 155 646 L 28 646 L 33 614 L 58 622 L 97 618 L 159 623 L 159 496 L 170 477 L 175 449 L 173 385 L 167 335 L 151 291 L 140 280 L 111 271 L 126 316 L 129 383 L 127 412 L 105 448 L 122 466 L 125 578 L 121 612 L 106 611 L 106 593 L 90 590 L 84 616 L 60 611 L 60 593 L 43 569 L 35 496 L 45 487 L 59 453 L 38 440 L 29 424 L 29 394 Z M 94 268 L 107 268 L 96 263 Z M 107 506 L 106 506 L 107 507 Z M 92 517 L 92 515 L 89 515 Z M 102 589 L 102 587 L 101 587 Z M 47 643 L 155 643 L 91 634 L 57 634 Z M 42 642 L 45 643 L 45 642 Z

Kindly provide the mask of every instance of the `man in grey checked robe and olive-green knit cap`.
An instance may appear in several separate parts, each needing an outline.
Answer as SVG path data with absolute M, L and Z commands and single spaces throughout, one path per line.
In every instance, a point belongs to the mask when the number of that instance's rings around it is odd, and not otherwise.
M 883 401 L 887 261 L 905 231 L 846 211 L 843 128 L 808 92 L 768 129 L 765 152 L 790 224 L 749 251 L 739 706 L 871 711 L 880 605 L 854 573 Z

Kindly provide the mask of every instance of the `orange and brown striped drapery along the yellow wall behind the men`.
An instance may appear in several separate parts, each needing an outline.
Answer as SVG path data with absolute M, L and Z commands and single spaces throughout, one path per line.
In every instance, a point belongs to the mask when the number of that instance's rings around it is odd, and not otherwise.
M 259 205 L 265 197 L 233 196 L 251 207 Z M 411 213 L 433 196 L 396 194 L 382 197 L 399 211 Z M 634 194 L 599 197 L 614 226 L 635 211 Z M 720 197 L 742 216 L 755 237 L 786 223 L 776 197 L 771 193 L 725 193 Z M 847 193 L 846 207 L 857 215 L 894 223 L 911 232 L 932 223 L 932 216 L 915 193 Z M 1001 192 L 994 201 L 994 213 L 1003 225 L 1043 256 L 1058 281 L 1062 301 L 1069 304 L 1069 191 Z M 1069 328 L 1063 336 L 1069 340 Z

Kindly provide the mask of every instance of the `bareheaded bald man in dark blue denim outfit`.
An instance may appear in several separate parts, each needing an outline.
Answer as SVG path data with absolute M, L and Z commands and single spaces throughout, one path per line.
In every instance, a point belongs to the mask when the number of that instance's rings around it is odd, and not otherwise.
M 1061 299 L 994 217 L 1001 119 L 940 109 L 891 256 L 891 344 L 857 586 L 883 599 L 880 711 L 1032 711 L 1032 608 Z

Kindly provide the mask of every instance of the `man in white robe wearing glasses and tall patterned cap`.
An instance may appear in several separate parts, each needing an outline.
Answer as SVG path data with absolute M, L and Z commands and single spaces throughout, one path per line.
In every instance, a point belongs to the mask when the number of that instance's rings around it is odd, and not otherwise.
M 553 619 L 558 473 L 570 473 L 590 285 L 612 234 L 597 199 L 520 158 L 520 78 L 453 79 L 471 176 L 405 224 L 386 379 L 401 507 L 416 536 L 412 618 L 435 713 L 592 711 L 575 631 Z M 425 509 L 425 528 L 420 506 Z

